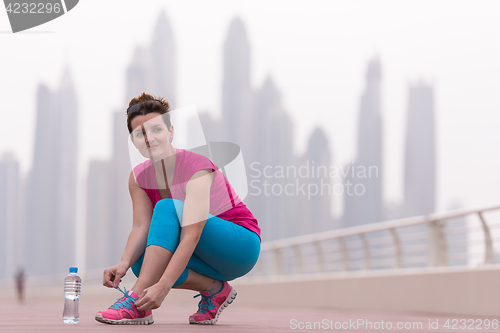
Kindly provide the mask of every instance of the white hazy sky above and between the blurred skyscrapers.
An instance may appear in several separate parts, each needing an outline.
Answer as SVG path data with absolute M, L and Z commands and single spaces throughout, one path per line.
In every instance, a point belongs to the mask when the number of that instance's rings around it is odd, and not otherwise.
M 230 21 L 244 21 L 254 89 L 271 75 L 303 152 L 315 126 L 333 163 L 355 157 L 368 60 L 383 75 L 385 199 L 400 201 L 407 86 L 435 87 L 438 209 L 500 203 L 500 2 L 498 1 L 97 1 L 11 34 L 0 10 L 0 154 L 31 167 L 39 83 L 56 89 L 64 66 L 80 101 L 81 172 L 111 150 L 111 113 L 124 110 L 125 70 L 149 44 L 164 10 L 172 26 L 180 106 L 220 115 L 222 47 Z M 64 139 L 64 138 L 63 138 Z M 124 138 L 126 140 L 126 138 Z

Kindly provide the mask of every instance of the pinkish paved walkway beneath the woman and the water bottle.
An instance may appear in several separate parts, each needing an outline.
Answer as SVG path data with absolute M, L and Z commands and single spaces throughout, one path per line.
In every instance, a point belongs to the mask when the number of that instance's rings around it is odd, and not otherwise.
M 111 305 L 119 293 L 111 290 L 102 294 L 82 295 L 80 300 L 80 322 L 76 325 L 62 323 L 62 291 L 31 295 L 24 304 L 19 304 L 12 294 L 0 297 L 0 332 L 293 332 L 307 330 L 308 323 L 315 331 L 358 332 L 450 332 L 444 327 L 446 320 L 469 319 L 461 316 L 436 316 L 424 314 L 381 313 L 351 310 L 296 309 L 296 308 L 249 308 L 238 305 L 238 298 L 222 313 L 214 326 L 189 325 L 188 317 L 196 310 L 199 298 L 192 304 L 176 305 L 175 298 L 166 300 L 163 306 L 153 312 L 155 323 L 149 326 L 114 326 L 98 323 L 94 314 Z M 184 296 L 184 295 L 183 295 Z M 190 295 L 188 295 L 190 296 Z M 238 296 L 240 297 L 240 296 Z M 272 297 L 272 295 L 270 295 Z M 483 322 L 486 318 L 473 318 Z M 492 320 L 494 318 L 490 318 Z M 358 321 L 363 321 L 359 326 Z M 330 322 L 332 321 L 332 322 Z M 438 321 L 439 329 L 429 329 L 429 323 Z M 366 326 L 370 322 L 370 326 Z M 361 322 L 360 322 L 361 323 Z M 397 329 L 398 323 L 402 329 Z M 416 324 L 415 324 L 416 323 Z M 421 324 L 419 324 L 421 323 Z M 478 322 L 475 323 L 477 325 Z M 320 325 L 323 325 L 320 327 Z M 368 324 L 369 325 L 369 324 Z M 388 328 L 388 326 L 391 328 Z M 401 326 L 402 325 L 402 326 Z M 410 329 L 413 325 L 419 325 Z M 421 326 L 420 326 L 421 325 Z M 300 329 L 303 327 L 304 329 Z M 474 326 L 476 327 L 476 326 Z M 461 329 L 459 329 L 461 331 Z M 465 330 L 465 329 L 464 329 Z M 467 331 L 476 331 L 467 329 Z M 496 330 L 498 331 L 498 329 Z

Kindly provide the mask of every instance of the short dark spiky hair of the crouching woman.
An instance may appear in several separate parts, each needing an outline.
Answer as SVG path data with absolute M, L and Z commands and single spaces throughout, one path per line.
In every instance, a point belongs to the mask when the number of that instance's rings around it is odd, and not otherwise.
M 158 103 L 160 102 L 160 103 Z M 130 108 L 132 105 L 141 104 L 139 110 L 135 112 L 131 112 L 127 114 L 127 128 L 128 132 L 132 133 L 132 119 L 137 116 L 145 116 L 151 112 L 157 112 L 162 116 L 163 122 L 167 125 L 168 130 L 170 131 L 170 127 L 172 124 L 170 123 L 170 104 L 163 97 L 155 97 L 154 95 L 142 93 L 138 97 L 134 97 L 128 103 L 128 107 Z

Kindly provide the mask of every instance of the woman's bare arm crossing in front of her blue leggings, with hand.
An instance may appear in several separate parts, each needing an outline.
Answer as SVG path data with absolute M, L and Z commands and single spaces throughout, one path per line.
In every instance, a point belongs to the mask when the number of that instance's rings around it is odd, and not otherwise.
M 186 184 L 182 229 L 179 246 L 175 250 L 160 281 L 147 288 L 136 302 L 139 310 L 158 308 L 186 268 L 205 227 L 210 208 L 210 187 L 214 179 L 212 170 L 196 172 Z M 148 291 L 151 290 L 151 293 Z M 154 290 L 154 291 L 153 291 Z

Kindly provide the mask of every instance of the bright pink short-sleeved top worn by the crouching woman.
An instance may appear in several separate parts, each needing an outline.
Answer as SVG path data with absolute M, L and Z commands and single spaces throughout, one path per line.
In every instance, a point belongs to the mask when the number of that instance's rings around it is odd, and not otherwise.
M 253 232 L 260 238 L 260 228 L 257 219 L 252 212 L 241 201 L 238 194 L 227 181 L 219 168 L 203 155 L 193 153 L 185 149 L 176 149 L 175 171 L 170 188 L 171 198 L 184 201 L 186 198 L 186 184 L 198 171 L 211 169 L 215 171 L 215 177 L 210 187 L 209 213 L 223 220 L 241 225 Z M 146 191 L 153 209 L 161 200 L 156 183 L 155 168 L 150 160 L 138 164 L 134 168 L 137 184 Z

